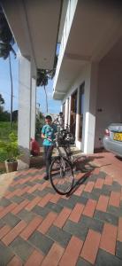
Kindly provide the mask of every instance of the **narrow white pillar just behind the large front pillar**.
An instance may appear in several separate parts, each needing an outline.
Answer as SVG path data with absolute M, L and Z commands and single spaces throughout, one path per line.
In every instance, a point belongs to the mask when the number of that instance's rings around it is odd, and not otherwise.
M 35 137 L 36 80 L 32 78 L 31 92 L 31 137 Z

